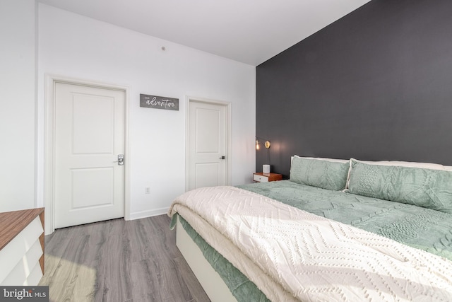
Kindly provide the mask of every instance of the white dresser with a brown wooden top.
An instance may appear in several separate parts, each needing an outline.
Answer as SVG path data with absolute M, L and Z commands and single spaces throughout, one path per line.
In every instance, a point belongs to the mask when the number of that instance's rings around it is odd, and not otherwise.
M 35 286 L 44 274 L 44 208 L 0 213 L 0 285 Z

